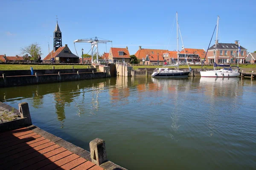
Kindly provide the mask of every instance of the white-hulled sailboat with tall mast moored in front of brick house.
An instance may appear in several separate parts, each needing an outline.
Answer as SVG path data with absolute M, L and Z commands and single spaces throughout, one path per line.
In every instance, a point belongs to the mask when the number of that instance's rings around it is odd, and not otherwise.
M 239 73 L 239 67 L 237 66 L 232 66 L 230 65 L 217 65 L 215 60 L 216 60 L 216 55 L 217 55 L 217 38 L 218 38 L 218 21 L 219 21 L 219 16 L 217 20 L 217 31 L 216 31 L 216 40 L 215 40 L 215 55 L 214 55 L 214 70 L 212 71 L 200 71 L 201 77 L 238 77 L 240 75 Z M 208 50 L 207 50 L 208 52 Z M 230 68 L 222 68 L 220 70 L 215 70 L 216 67 L 230 67 Z

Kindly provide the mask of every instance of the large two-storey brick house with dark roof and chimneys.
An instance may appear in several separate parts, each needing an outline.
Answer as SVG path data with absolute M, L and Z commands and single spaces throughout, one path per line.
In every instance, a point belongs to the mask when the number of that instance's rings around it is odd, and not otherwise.
M 241 53 L 238 57 L 238 41 L 235 43 L 218 43 L 217 41 L 217 55 L 215 62 L 218 64 L 224 63 L 237 63 L 239 59 L 239 63 L 245 63 L 246 59 L 246 51 L 244 47 L 240 45 Z M 206 64 L 213 64 L 215 56 L 215 44 L 212 45 L 206 57 Z

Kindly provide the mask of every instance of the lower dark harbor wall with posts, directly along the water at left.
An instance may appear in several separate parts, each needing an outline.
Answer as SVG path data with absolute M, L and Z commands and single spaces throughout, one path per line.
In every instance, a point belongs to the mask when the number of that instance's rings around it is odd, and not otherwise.
M 25 76 L 6 76 L 3 74 L 0 77 L 0 88 L 22 86 L 22 85 L 34 85 L 53 82 L 67 82 L 86 79 L 99 79 L 110 77 L 107 72 L 91 72 L 91 73 L 64 73 L 58 72 L 58 74 L 43 74 L 43 75 L 25 75 Z

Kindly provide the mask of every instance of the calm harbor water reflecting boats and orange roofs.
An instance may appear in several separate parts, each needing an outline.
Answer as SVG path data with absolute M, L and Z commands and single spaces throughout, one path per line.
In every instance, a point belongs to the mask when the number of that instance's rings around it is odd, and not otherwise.
M 239 78 L 94 79 L 1 88 L 28 102 L 34 125 L 131 170 L 255 169 L 256 81 Z

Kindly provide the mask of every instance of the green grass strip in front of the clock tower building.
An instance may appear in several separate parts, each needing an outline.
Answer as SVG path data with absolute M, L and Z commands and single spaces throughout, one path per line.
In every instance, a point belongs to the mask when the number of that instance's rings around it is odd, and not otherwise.
M 33 70 L 45 70 L 45 69 L 52 69 L 52 66 L 55 69 L 74 69 L 76 68 L 88 68 L 89 65 L 12 65 L 12 64 L 0 64 L 0 70 L 30 70 L 30 66 Z M 89 66 L 90 68 L 90 66 Z

